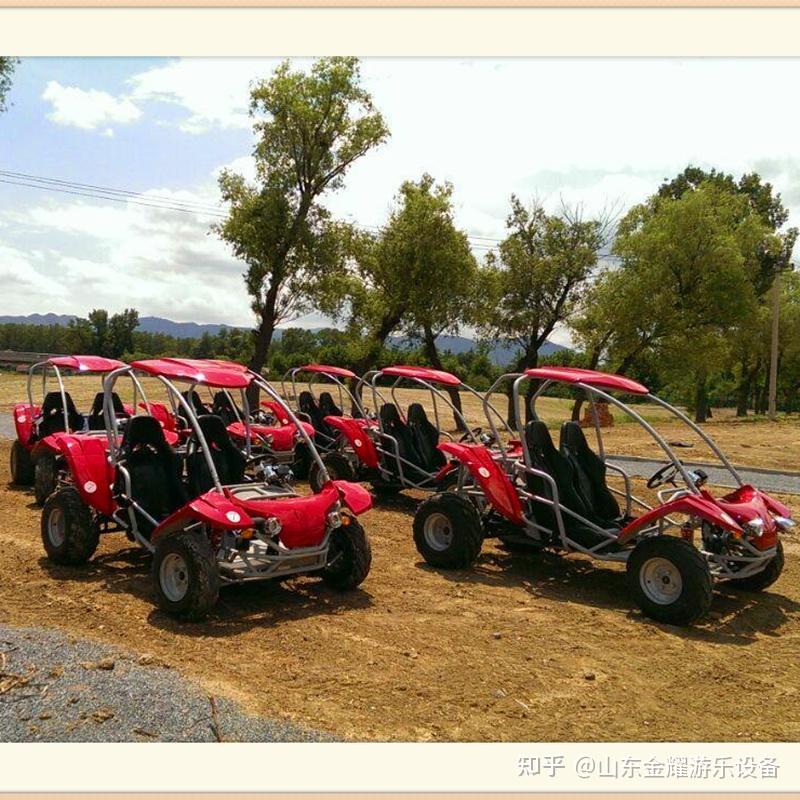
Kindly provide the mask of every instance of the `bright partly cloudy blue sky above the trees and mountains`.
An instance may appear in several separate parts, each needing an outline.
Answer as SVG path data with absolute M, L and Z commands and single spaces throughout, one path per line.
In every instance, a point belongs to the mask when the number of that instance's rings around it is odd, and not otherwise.
M 25 59 L 0 169 L 216 205 L 219 169 L 252 171 L 248 86 L 276 63 Z M 800 61 L 367 59 L 362 73 L 392 136 L 325 199 L 358 223 L 382 224 L 400 183 L 427 171 L 453 182 L 471 236 L 500 238 L 512 192 L 624 210 L 691 162 L 760 171 L 800 224 L 800 110 L 786 94 Z M 0 183 L 0 314 L 135 306 L 249 324 L 242 266 L 212 221 Z

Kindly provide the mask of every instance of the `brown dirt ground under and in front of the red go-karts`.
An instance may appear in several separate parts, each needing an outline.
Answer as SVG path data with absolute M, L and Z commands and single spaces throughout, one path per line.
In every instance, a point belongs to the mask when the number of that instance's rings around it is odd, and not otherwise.
M 39 509 L 0 442 L 0 621 L 153 654 L 265 715 L 357 740 L 800 739 L 800 537 L 763 594 L 717 593 L 692 629 L 634 610 L 615 566 L 511 555 L 437 572 L 411 537 L 416 500 L 364 517 L 360 590 L 318 580 L 224 590 L 214 615 L 157 612 L 148 558 L 106 537 L 83 568 L 44 558 Z M 795 498 L 795 501 L 797 498 Z M 791 503 L 791 500 L 790 500 Z

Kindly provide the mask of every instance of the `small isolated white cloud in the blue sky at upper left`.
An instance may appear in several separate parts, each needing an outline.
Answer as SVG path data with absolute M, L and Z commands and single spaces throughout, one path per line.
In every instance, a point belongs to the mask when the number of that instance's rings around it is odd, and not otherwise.
M 53 122 L 85 131 L 103 128 L 104 136 L 114 135 L 109 123 L 125 125 L 142 116 L 141 109 L 126 97 L 114 97 L 97 89 L 62 86 L 58 81 L 47 84 L 42 99 L 52 105 L 47 117 Z

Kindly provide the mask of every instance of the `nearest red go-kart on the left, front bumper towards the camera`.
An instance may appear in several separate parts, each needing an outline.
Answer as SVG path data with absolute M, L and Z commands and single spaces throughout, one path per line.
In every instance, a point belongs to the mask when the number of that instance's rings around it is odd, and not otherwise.
M 189 424 L 191 432 L 177 450 L 154 417 L 121 421 L 114 415 L 117 381 L 133 381 L 144 395 L 142 374 L 163 384 Z M 357 484 L 326 480 L 319 492 L 301 496 L 269 471 L 248 480 L 248 457 L 232 444 L 223 421 L 198 416 L 176 385 L 244 390 L 253 382 L 299 423 L 263 378 L 237 364 L 164 358 L 111 372 L 104 381 L 106 440 L 62 439 L 72 482 L 59 487 L 42 510 L 48 557 L 82 564 L 101 534 L 124 532 L 153 554 L 159 607 L 187 619 L 205 616 L 228 584 L 306 573 L 338 589 L 358 586 L 371 564 L 369 540 L 357 519 L 371 506 L 369 493 Z M 319 462 L 313 441 L 299 424 L 298 430 Z M 324 470 L 321 462 L 319 467 Z

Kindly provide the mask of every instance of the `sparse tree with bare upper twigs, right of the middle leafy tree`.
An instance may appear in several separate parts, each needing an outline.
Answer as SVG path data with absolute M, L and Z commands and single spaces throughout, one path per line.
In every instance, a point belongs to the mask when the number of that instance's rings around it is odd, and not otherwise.
M 517 348 L 515 371 L 535 367 L 542 345 L 574 312 L 597 267 L 608 225 L 607 219 L 587 219 L 568 208 L 548 214 L 512 195 L 508 235 L 487 257 L 480 327 L 486 338 Z

